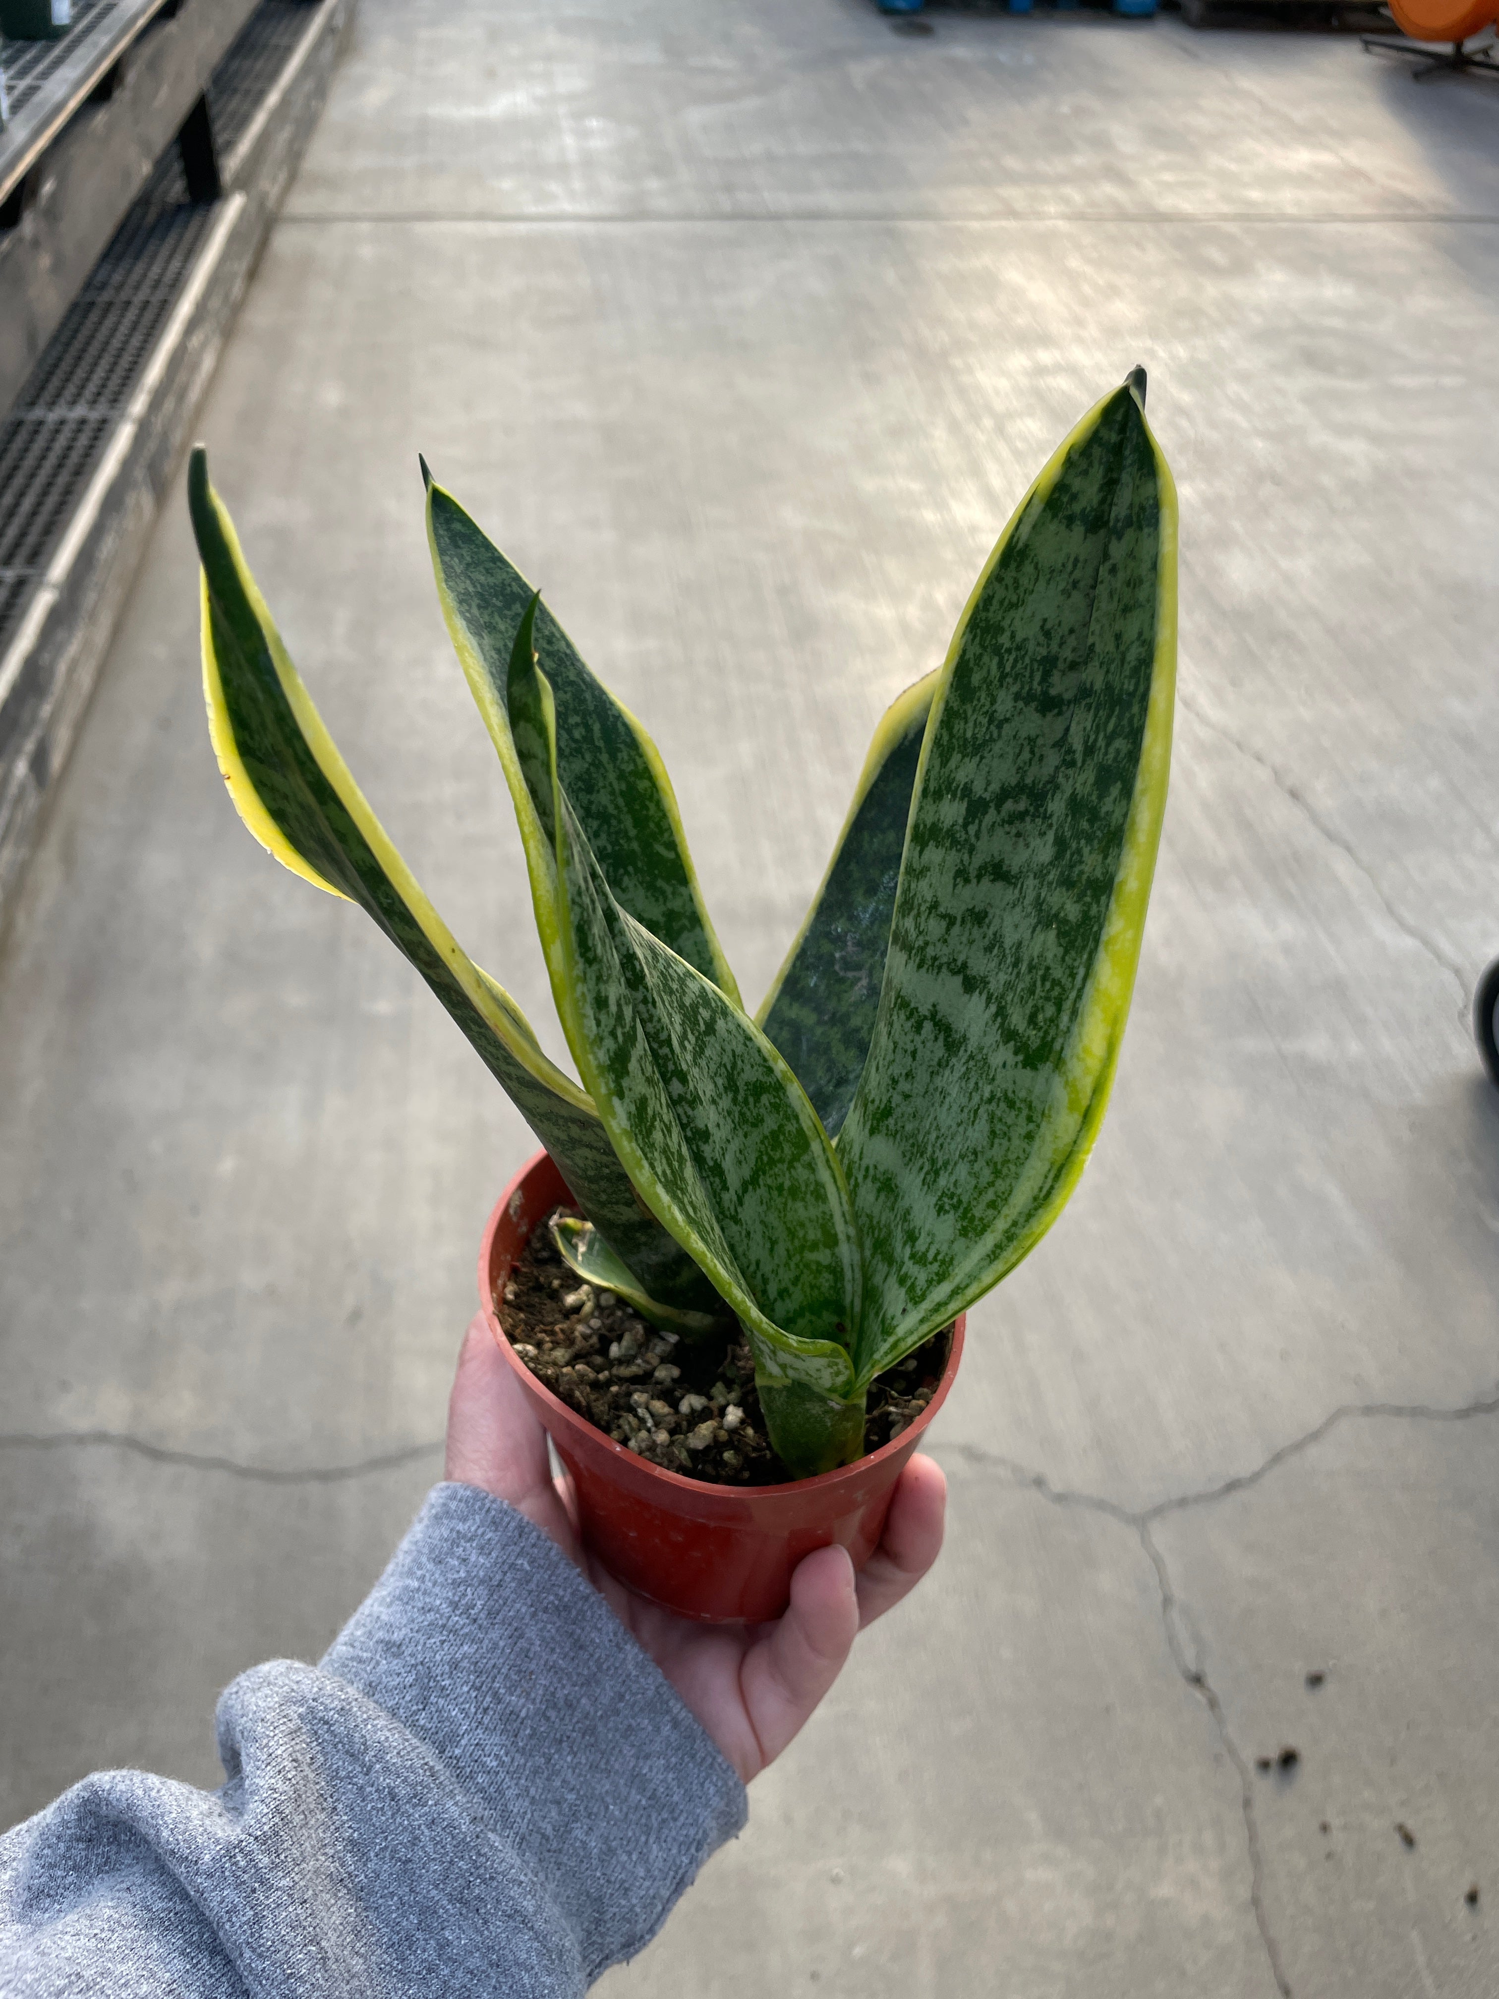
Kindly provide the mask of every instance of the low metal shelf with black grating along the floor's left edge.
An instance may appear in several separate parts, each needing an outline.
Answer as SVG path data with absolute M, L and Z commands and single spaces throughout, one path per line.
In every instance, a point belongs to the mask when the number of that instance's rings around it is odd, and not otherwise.
M 352 6 L 260 0 L 0 418 L 0 928 Z

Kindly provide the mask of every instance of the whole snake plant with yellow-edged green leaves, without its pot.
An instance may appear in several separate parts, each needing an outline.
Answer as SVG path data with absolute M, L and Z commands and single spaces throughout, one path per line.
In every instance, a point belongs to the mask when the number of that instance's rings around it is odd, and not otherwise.
M 360 904 L 562 1167 L 582 1275 L 738 1319 L 793 1475 L 1039 1241 L 1097 1135 L 1165 808 L 1175 492 L 1135 370 L 1055 452 L 879 724 L 750 1013 L 646 730 L 430 476 L 438 596 L 520 822 L 578 1075 L 454 940 L 334 748 L 194 452 L 204 690 L 250 832 Z

